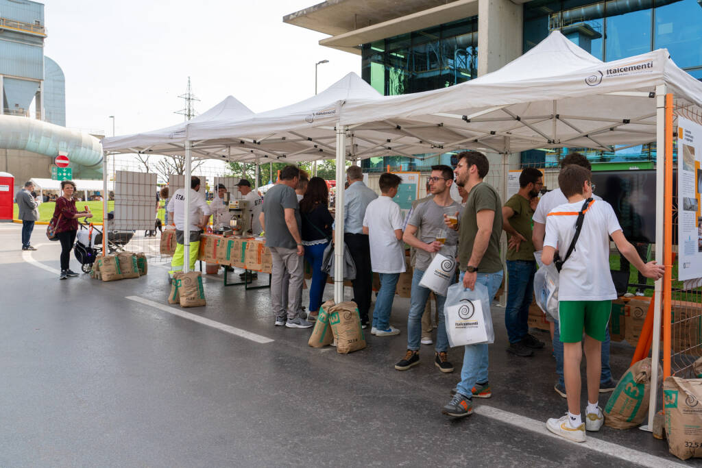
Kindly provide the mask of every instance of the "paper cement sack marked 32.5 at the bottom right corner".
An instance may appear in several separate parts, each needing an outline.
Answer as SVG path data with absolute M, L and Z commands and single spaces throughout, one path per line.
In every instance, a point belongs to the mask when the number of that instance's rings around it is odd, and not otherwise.
M 702 379 L 667 377 L 663 382 L 665 435 L 670 453 L 702 457 Z

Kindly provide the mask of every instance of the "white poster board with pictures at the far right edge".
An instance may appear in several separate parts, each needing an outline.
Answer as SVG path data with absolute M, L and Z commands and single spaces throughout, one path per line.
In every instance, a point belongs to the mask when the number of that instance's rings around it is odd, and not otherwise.
M 702 126 L 677 119 L 677 279 L 702 277 Z

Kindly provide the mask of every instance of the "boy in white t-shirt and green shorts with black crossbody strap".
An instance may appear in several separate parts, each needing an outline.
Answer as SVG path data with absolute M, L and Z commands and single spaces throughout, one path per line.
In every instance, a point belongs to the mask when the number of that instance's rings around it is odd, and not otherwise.
M 581 166 L 567 166 L 558 175 L 558 185 L 568 203 L 559 205 L 548 213 L 541 260 L 545 265 L 550 265 L 554 261 L 556 250 L 563 260 L 559 275 L 558 315 L 560 340 L 564 349 L 563 371 L 568 414 L 559 419 L 549 419 L 546 427 L 565 439 L 584 442 L 585 429 L 598 431 L 604 422 L 602 410 L 597 406 L 600 354 L 609 322 L 611 300 L 616 299 L 611 275 L 606 274 L 609 272 L 609 236 L 622 255 L 647 278 L 660 278 L 664 268 L 656 265 L 656 262 L 644 264 L 635 247 L 625 239 L 609 203 L 591 199 L 590 171 Z M 566 258 L 581 210 L 584 212 L 581 233 L 574 250 Z M 588 375 L 585 424 L 580 413 L 583 329 Z

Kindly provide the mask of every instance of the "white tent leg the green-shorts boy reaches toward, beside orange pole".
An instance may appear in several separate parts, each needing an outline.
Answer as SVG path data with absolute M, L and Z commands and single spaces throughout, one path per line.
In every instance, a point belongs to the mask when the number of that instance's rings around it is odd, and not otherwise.
M 663 193 L 665 190 L 665 85 L 656 86 L 656 262 L 663 265 Z M 663 279 L 654 288 L 654 330 L 651 344 L 651 394 L 649 395 L 649 423 L 644 431 L 653 431 L 658 399 L 658 363 L 661 362 L 661 291 Z

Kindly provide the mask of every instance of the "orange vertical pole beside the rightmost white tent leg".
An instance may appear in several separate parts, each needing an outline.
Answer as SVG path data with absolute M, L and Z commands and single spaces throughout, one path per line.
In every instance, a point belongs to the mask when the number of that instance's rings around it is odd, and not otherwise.
M 665 192 L 663 194 L 663 378 L 670 377 L 670 297 L 673 286 L 673 95 L 665 95 Z

